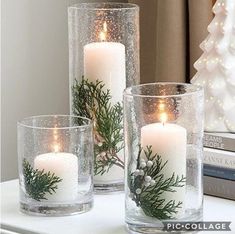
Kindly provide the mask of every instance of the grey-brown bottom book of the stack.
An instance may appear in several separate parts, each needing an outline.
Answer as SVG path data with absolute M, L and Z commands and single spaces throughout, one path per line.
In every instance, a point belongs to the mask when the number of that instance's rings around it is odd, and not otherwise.
M 204 194 L 235 200 L 235 181 L 204 176 Z

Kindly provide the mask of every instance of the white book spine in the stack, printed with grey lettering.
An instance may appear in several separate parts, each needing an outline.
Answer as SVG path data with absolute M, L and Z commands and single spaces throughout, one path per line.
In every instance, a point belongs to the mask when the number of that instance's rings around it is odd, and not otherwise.
M 235 153 L 204 148 L 204 164 L 235 169 Z

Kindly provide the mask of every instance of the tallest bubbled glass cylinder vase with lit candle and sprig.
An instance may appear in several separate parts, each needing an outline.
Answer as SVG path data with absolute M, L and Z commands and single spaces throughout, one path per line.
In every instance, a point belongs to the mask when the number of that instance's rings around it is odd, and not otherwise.
M 122 94 L 139 84 L 139 7 L 81 3 L 69 7 L 71 114 L 94 121 L 94 185 L 124 189 Z

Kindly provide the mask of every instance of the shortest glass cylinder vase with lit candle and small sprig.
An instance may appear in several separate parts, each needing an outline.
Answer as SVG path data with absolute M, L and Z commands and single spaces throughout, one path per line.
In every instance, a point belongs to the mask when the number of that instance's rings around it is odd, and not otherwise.
M 93 133 L 87 118 L 49 115 L 18 122 L 20 210 L 41 216 L 93 205 Z

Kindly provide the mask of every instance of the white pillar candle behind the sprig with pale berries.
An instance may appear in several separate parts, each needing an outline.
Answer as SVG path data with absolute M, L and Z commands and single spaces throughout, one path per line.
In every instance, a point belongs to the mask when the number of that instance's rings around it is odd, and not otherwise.
M 158 154 L 162 158 L 162 163 L 167 164 L 162 170 L 164 179 L 175 176 L 186 177 L 186 129 L 170 123 L 153 123 L 141 128 L 141 146 L 152 146 L 153 154 Z M 175 200 L 177 203 L 185 203 L 186 185 L 174 188 L 176 192 L 164 192 L 161 196 L 166 201 Z M 180 212 L 180 211 L 179 211 Z

